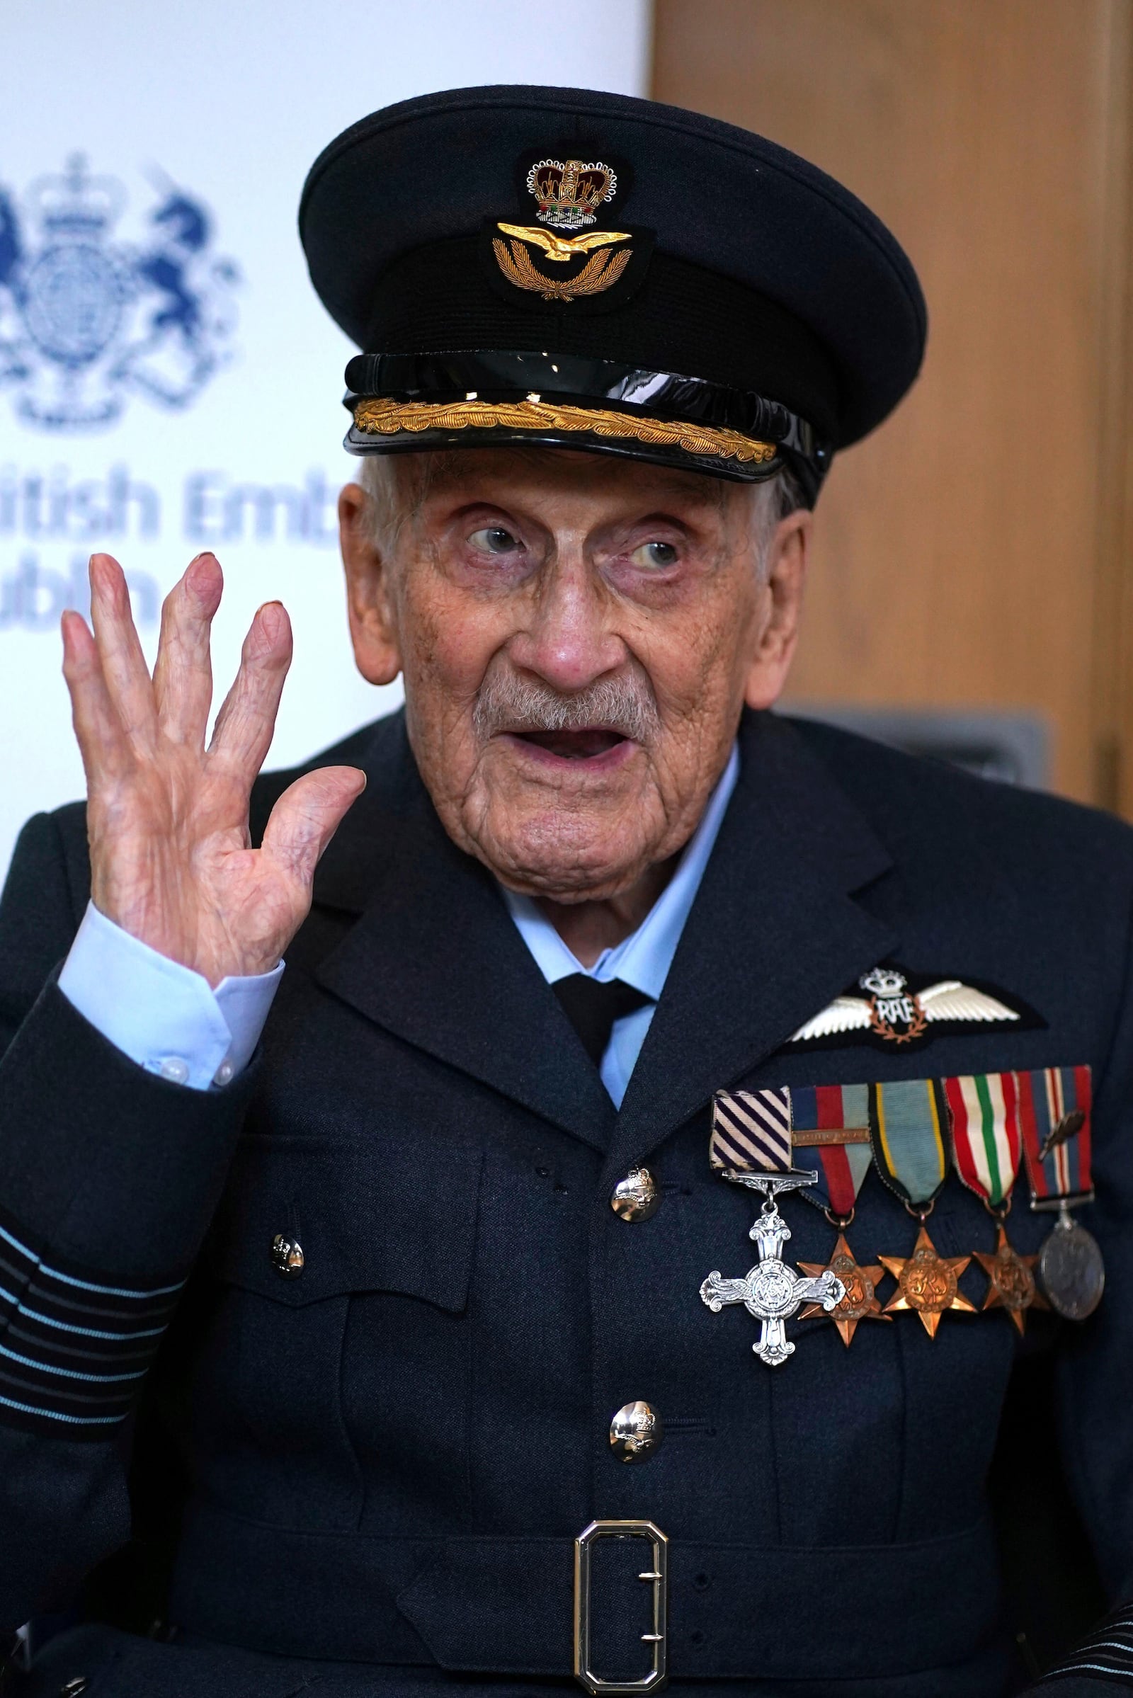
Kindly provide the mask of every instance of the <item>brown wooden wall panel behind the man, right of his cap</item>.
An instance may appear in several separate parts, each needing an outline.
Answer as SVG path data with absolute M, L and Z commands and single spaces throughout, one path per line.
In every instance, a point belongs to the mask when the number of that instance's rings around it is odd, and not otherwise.
M 892 226 L 924 375 L 819 504 L 793 693 L 1040 710 L 1053 783 L 1133 813 L 1128 0 L 657 0 L 652 92 Z

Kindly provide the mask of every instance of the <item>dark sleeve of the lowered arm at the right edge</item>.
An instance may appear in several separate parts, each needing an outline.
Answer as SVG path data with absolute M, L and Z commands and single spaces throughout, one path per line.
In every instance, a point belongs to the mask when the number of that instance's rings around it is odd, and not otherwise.
M 1041 1698 L 1133 1688 L 1133 947 L 1096 1080 L 1092 1177 L 1097 1200 L 1075 1219 L 1101 1246 L 1106 1289 L 1089 1321 L 1063 1326 L 1057 1413 L 1062 1464 L 1111 1613 L 1046 1673 L 1034 1688 Z

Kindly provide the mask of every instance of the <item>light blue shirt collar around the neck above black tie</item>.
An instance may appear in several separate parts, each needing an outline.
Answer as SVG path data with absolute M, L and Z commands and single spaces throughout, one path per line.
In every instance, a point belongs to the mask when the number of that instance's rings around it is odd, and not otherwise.
M 685 920 L 700 890 L 700 880 L 708 864 L 708 856 L 717 841 L 717 832 L 720 830 L 720 822 L 736 790 L 737 778 L 739 749 L 732 745 L 727 766 L 708 796 L 700 825 L 685 846 L 676 873 L 637 931 L 623 937 L 617 949 L 603 949 L 593 966 L 583 966 L 574 953 L 567 949 L 559 932 L 532 897 L 518 897 L 511 890 L 503 891 L 508 912 L 549 985 L 567 978 L 571 973 L 586 973 L 588 978 L 596 978 L 601 983 L 620 978 L 645 997 L 652 997 L 654 1002 L 661 997 L 669 968 L 673 966 L 676 946 L 681 941 Z

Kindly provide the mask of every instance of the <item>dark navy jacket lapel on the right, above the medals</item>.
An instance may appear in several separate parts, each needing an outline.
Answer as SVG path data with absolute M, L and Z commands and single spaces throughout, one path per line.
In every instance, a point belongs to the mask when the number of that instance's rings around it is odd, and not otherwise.
M 890 866 L 803 735 L 747 715 L 739 783 L 622 1104 L 612 1170 L 893 953 L 893 932 L 851 895 Z

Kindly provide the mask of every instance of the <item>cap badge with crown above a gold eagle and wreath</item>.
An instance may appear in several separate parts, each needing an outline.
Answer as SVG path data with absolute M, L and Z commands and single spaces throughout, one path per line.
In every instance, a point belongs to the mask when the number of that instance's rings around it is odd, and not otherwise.
M 484 256 L 491 260 L 496 285 L 506 285 L 506 297 L 516 302 L 527 295 L 527 306 L 600 309 L 623 301 L 644 275 L 652 233 L 596 228 L 617 195 L 613 166 L 569 156 L 535 160 L 525 168 L 523 187 L 535 200 L 535 222 L 527 224 L 521 216 L 489 219 L 484 231 Z M 613 299 L 598 299 L 612 290 Z

